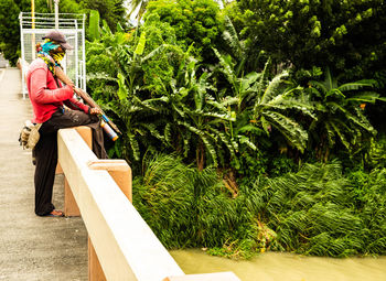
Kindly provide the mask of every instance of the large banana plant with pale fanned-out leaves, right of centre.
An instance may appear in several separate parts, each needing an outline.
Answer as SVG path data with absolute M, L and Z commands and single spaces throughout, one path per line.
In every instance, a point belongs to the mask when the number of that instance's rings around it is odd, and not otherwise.
M 219 61 L 217 69 L 229 83 L 230 93 L 228 94 L 235 98 L 233 109 L 236 119 L 247 110 L 250 112 L 250 120 L 245 126 L 250 127 L 253 123 L 264 129 L 267 134 L 275 128 L 291 145 L 303 152 L 307 147 L 308 132 L 293 118 L 293 112 L 301 112 L 311 118 L 315 116 L 312 112 L 312 104 L 303 98 L 303 95 L 297 95 L 303 90 L 301 87 L 285 86 L 283 78 L 288 76 L 288 72 L 282 72 L 269 79 L 270 61 L 268 61 L 261 73 L 253 72 L 238 76 L 238 73 L 234 71 L 233 58 L 221 54 L 215 48 L 214 52 Z

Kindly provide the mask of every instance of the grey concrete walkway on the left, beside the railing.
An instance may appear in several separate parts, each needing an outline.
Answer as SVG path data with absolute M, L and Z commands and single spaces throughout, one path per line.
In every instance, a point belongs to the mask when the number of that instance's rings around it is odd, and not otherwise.
M 19 147 L 19 131 L 31 119 L 18 68 L 0 68 L 0 280 L 87 280 L 87 233 L 82 218 L 34 215 L 34 166 Z M 63 207 L 63 175 L 53 202 Z

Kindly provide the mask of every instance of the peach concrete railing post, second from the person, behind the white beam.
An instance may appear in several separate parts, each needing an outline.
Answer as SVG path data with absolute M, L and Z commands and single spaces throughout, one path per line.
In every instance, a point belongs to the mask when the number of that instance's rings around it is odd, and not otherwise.
M 106 170 L 114 179 L 116 184 L 132 202 L 131 192 L 131 169 L 125 160 L 96 160 L 88 162 L 92 170 Z M 106 281 L 104 270 L 100 267 L 98 256 L 95 252 L 92 239 L 88 237 L 88 280 Z

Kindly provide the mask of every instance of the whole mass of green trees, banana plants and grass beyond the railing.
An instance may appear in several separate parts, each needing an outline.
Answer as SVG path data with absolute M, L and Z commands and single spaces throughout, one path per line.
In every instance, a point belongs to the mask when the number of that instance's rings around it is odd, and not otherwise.
M 386 253 L 384 2 L 142 4 L 136 29 L 97 28 L 88 87 L 161 241 Z

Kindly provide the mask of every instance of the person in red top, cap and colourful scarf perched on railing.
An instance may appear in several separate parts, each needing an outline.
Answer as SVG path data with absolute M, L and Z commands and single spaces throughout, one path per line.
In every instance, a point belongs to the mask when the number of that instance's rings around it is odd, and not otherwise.
M 63 216 L 52 204 L 52 191 L 57 164 L 57 130 L 87 125 L 93 128 L 93 151 L 107 158 L 103 130 L 97 115 L 74 96 L 74 85 L 63 85 L 55 77 L 55 67 L 61 66 L 66 50 L 73 47 L 60 31 L 49 32 L 43 43 L 36 45 L 37 58 L 26 74 L 26 86 L 33 107 L 32 122 L 41 123 L 40 140 L 34 148 L 35 156 L 35 214 L 37 216 Z

